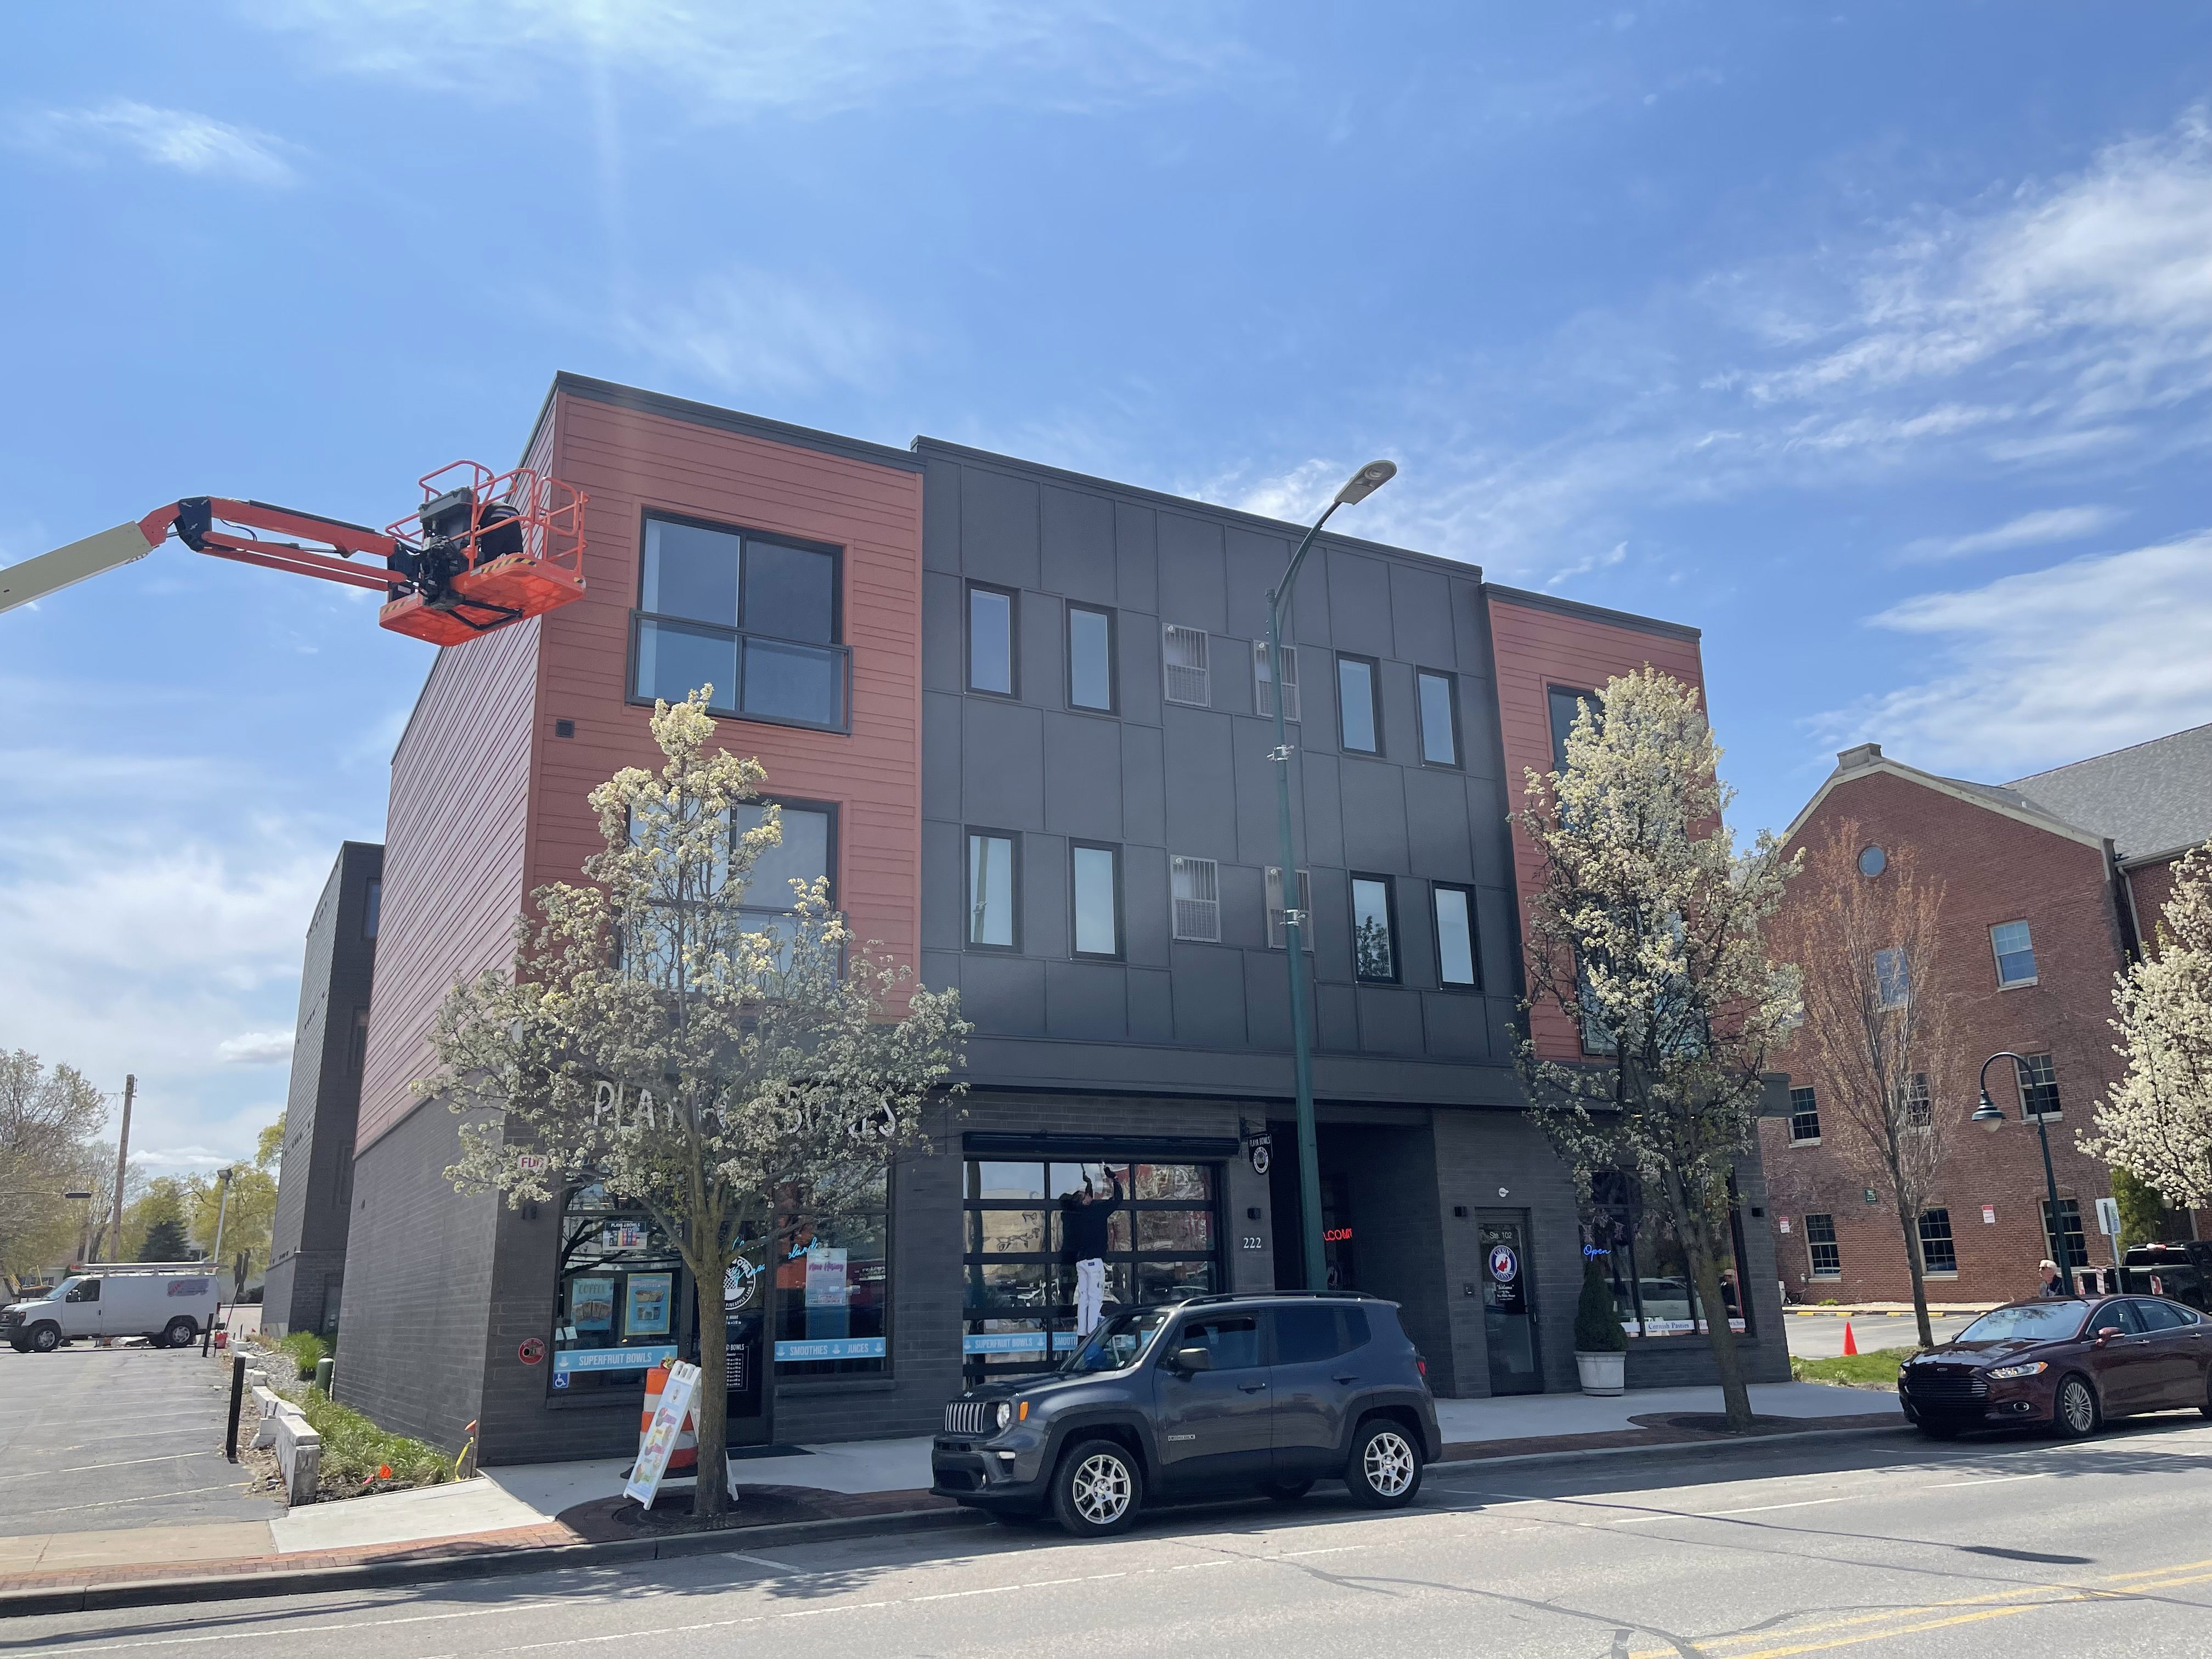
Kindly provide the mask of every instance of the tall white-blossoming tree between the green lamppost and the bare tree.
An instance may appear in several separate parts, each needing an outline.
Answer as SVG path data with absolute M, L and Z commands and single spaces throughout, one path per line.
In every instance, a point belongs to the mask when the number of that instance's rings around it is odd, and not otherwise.
M 1697 692 L 1641 668 L 1582 706 L 1564 772 L 1528 772 L 1520 825 L 1544 876 L 1528 896 L 1524 1015 L 1557 1009 L 1579 1026 L 1584 1060 L 1540 1057 L 1528 1020 L 1520 1064 L 1577 1177 L 1635 1175 L 1674 1228 L 1728 1422 L 1747 1429 L 1721 1272 L 1761 1073 L 1801 1020 L 1798 971 L 1770 962 L 1765 942 L 1798 860 L 1765 832 L 1736 854 L 1719 761 Z

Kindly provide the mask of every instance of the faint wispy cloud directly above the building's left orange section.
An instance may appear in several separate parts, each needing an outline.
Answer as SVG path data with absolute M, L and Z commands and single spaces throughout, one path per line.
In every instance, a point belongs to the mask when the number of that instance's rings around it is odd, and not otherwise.
M 880 385 L 907 349 L 894 323 L 834 281 L 732 270 L 617 323 L 624 345 L 730 394 Z

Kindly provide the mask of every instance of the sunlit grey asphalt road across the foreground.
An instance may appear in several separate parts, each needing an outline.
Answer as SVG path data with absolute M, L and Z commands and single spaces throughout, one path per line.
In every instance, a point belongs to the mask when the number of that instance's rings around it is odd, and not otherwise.
M 1431 1471 L 1418 1509 L 845 1540 L 617 1571 L 0 1624 L 0 1655 L 2201 1659 L 2212 1422 Z

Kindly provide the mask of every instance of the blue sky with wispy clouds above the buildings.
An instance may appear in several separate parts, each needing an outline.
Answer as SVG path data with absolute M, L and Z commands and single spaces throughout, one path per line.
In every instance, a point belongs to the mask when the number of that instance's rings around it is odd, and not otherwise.
M 1533 13 L 1533 15 L 1528 15 Z M 555 369 L 1705 630 L 1739 827 L 2212 719 L 2212 15 L 288 0 L 11 13 L 0 562 L 383 524 Z M 0 617 L 0 1046 L 250 1152 L 429 648 L 175 549 Z

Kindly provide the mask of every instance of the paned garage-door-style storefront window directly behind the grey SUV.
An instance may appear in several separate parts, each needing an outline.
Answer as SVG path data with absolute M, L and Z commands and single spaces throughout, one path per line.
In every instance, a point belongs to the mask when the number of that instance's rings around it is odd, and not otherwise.
M 1106 1310 L 1221 1287 L 1219 1166 L 967 1166 L 962 1352 L 971 1380 L 1037 1371 L 1075 1349 L 1075 1263 L 1064 1199 L 1091 1186 L 1106 1217 Z

